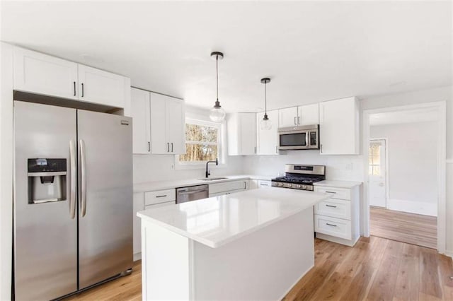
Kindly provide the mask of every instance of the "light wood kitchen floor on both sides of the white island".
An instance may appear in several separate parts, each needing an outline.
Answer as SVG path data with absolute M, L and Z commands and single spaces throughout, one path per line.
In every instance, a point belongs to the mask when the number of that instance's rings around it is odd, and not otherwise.
M 316 239 L 314 268 L 284 300 L 453 300 L 449 276 L 452 259 L 433 249 L 381 237 L 361 237 L 352 248 Z M 69 300 L 141 300 L 141 277 L 137 261 L 132 275 Z

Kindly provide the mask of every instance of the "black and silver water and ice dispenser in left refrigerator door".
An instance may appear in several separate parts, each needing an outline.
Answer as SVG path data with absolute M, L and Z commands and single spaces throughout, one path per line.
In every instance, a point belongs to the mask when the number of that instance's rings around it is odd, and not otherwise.
M 66 200 L 66 163 L 66 159 L 28 159 L 28 203 Z

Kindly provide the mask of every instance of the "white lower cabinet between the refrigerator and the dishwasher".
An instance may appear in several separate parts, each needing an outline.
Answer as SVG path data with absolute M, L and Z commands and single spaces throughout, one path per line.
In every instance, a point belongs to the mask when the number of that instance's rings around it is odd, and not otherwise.
M 142 259 L 142 231 L 138 211 L 149 208 L 159 208 L 176 204 L 175 189 L 139 192 L 134 194 L 134 224 L 133 224 L 133 250 L 134 261 Z

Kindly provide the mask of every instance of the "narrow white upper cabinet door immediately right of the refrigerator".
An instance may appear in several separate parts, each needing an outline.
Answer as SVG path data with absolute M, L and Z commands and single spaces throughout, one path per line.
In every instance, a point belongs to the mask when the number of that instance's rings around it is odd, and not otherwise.
M 151 153 L 151 111 L 148 91 L 131 88 L 131 112 L 133 153 Z

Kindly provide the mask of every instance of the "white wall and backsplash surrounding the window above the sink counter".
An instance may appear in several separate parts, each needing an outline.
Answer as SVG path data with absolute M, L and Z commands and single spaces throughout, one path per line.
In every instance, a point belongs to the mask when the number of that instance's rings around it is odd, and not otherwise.
M 209 121 L 209 110 L 186 106 L 185 117 Z M 222 134 L 222 143 L 226 143 L 226 126 L 222 126 Z M 205 177 L 205 165 L 197 169 L 175 168 L 174 155 L 134 155 L 133 160 L 134 183 Z M 223 166 L 210 165 L 212 177 L 243 173 L 241 157 L 226 155 L 224 160 L 226 164 Z

